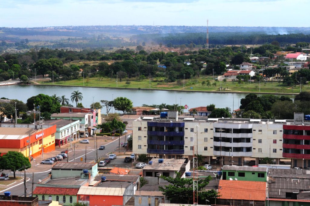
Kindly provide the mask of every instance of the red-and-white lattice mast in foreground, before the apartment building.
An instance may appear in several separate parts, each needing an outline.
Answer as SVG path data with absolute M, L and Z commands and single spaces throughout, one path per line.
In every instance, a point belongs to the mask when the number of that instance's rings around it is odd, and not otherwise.
M 195 141 L 193 140 L 193 205 L 198 205 L 198 158 L 197 156 L 195 157 L 195 150 L 196 154 L 198 155 L 198 125 L 197 127 L 197 139 L 196 143 L 197 145 L 195 146 Z M 194 135 L 193 135 L 194 136 Z M 194 137 L 193 137 L 194 139 Z

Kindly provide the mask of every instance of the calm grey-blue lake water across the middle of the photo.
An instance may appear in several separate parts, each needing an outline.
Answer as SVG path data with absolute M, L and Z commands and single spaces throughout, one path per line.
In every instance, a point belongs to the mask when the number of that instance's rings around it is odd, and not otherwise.
M 57 96 L 65 95 L 70 100 L 70 104 L 75 106 L 75 102 L 71 102 L 71 93 L 79 90 L 83 94 L 82 104 L 84 107 L 89 107 L 94 101 L 108 100 L 111 101 L 112 97 L 122 96 L 127 97 L 133 102 L 134 106 L 141 106 L 142 104 L 177 104 L 184 106 L 188 105 L 189 108 L 206 106 L 215 104 L 217 108 L 229 107 L 232 108 L 234 99 L 234 109 L 238 108 L 238 101 L 244 98 L 247 94 L 233 94 L 233 93 L 204 93 L 204 92 L 174 92 L 174 91 L 156 91 L 156 90 L 125 90 L 125 89 L 107 89 L 107 88 L 90 88 L 90 87 L 58 87 L 58 86 L 45 86 L 45 85 L 11 85 L 0 87 L 0 98 L 6 97 L 9 99 L 19 99 L 26 102 L 31 96 L 38 94 L 46 94 Z M 112 95 L 113 94 L 113 95 Z M 176 96 L 175 96 L 176 94 Z M 175 98 L 176 97 L 176 98 Z M 105 111 L 103 108 L 102 112 Z M 184 110 L 185 111 L 185 110 Z

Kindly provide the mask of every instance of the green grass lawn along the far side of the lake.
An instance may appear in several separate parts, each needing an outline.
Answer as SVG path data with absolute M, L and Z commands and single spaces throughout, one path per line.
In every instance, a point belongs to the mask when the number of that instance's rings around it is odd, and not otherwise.
M 208 87 L 208 86 L 202 86 L 201 82 L 206 80 L 207 77 L 203 76 L 200 78 L 194 78 L 190 80 L 185 79 L 185 87 L 184 90 L 186 91 L 220 91 L 220 85 L 222 85 L 222 91 L 230 91 L 230 92 L 259 92 L 259 82 L 242 82 L 241 85 L 239 85 L 236 81 L 235 82 L 223 82 L 219 81 L 216 82 L 216 87 Z M 211 84 L 213 83 L 212 76 L 209 77 Z M 183 90 L 183 79 L 180 79 L 178 82 L 173 83 L 166 83 L 166 82 L 156 82 L 153 81 L 154 79 L 151 78 L 151 89 L 174 89 L 174 90 Z M 86 87 L 118 87 L 118 88 L 149 88 L 149 80 L 145 79 L 143 81 L 129 81 L 130 84 L 126 84 L 127 80 L 117 81 L 110 78 L 88 78 L 84 79 L 83 84 L 83 78 L 69 80 L 69 81 L 59 81 L 54 82 L 54 85 L 68 85 L 68 86 L 83 86 Z M 186 83 L 188 81 L 196 81 L 197 83 L 194 86 L 186 86 Z M 47 84 L 52 85 L 52 81 L 43 81 L 38 82 L 41 84 Z M 222 83 L 222 84 L 221 84 Z M 303 85 L 302 91 L 309 91 L 310 87 L 309 85 Z M 278 83 L 277 81 L 267 82 L 267 83 L 260 83 L 260 92 L 266 92 L 266 93 L 299 93 L 300 92 L 300 85 L 297 85 L 296 87 L 293 86 L 287 86 L 282 83 Z

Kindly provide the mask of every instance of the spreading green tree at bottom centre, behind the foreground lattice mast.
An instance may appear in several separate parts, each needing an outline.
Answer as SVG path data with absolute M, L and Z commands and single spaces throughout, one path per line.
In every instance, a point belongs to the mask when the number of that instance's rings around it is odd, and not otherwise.
M 191 178 L 181 178 L 180 172 L 175 172 L 175 178 L 161 176 L 160 178 L 168 181 L 170 184 L 165 187 L 159 186 L 158 189 L 162 191 L 170 201 L 177 201 L 178 203 L 189 204 L 193 201 L 193 180 Z M 217 197 L 215 190 L 204 190 L 203 188 L 209 184 L 211 176 L 205 179 L 198 179 L 198 201 L 211 199 Z

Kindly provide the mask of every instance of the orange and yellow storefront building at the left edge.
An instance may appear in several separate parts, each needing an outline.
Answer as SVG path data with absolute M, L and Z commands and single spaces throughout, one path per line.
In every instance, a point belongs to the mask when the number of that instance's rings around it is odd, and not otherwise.
M 42 129 L 26 127 L 0 127 L 0 152 L 1 156 L 8 151 L 21 152 L 25 157 L 33 158 L 55 150 L 56 125 L 44 125 Z M 29 143 L 30 135 L 30 143 Z M 30 152 L 30 153 L 29 153 Z

